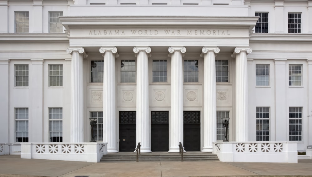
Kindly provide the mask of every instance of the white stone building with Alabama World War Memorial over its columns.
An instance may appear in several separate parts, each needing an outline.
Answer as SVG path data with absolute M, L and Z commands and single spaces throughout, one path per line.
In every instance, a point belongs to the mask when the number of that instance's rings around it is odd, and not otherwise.
M 312 144 L 311 0 L 0 0 L 0 143 Z

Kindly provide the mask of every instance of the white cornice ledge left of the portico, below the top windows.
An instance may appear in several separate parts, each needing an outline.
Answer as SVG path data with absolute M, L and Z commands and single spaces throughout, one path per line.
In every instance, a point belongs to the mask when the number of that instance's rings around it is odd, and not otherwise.
M 0 33 L 1 41 L 69 41 L 65 33 Z

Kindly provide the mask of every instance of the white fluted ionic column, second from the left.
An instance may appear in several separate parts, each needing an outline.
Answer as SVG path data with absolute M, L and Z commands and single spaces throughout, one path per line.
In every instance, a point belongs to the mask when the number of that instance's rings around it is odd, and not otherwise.
M 118 57 L 116 47 L 101 47 L 104 57 L 103 68 L 103 142 L 107 142 L 107 152 L 118 152 L 116 121 L 116 76 L 115 58 Z

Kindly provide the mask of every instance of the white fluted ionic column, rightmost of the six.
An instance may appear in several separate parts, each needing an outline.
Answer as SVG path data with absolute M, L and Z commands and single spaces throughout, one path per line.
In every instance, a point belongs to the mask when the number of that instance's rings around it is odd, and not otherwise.
M 236 47 L 232 57 L 236 58 L 236 104 L 235 124 L 236 142 L 248 141 L 248 85 L 247 85 L 247 54 L 251 53 L 249 47 Z

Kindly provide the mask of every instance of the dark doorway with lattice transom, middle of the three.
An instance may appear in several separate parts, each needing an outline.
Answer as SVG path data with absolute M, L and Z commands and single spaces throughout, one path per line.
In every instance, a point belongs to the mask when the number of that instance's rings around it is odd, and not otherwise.
M 151 150 L 169 150 L 169 111 L 151 111 Z

